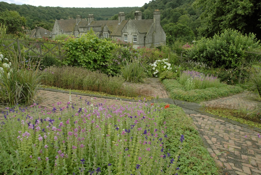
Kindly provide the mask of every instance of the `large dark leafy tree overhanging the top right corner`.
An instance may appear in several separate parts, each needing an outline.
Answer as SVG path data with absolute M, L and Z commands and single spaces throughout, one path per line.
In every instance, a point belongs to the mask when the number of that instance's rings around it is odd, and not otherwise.
M 195 0 L 194 8 L 203 6 L 199 33 L 211 37 L 225 29 L 256 33 L 261 38 L 261 3 L 259 0 Z

